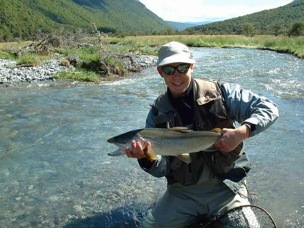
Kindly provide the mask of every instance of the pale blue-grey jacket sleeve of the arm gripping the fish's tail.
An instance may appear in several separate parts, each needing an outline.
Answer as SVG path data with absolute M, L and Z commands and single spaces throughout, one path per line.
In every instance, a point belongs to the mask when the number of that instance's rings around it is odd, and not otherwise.
M 255 126 L 250 137 L 266 130 L 278 119 L 277 105 L 266 97 L 259 96 L 238 84 L 223 83 L 221 86 L 230 118 L 238 123 L 248 122 Z

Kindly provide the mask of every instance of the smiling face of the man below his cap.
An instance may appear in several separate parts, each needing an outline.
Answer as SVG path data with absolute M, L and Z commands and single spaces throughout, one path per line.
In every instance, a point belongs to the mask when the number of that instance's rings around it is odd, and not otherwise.
M 185 65 L 185 63 L 172 63 L 166 66 L 178 67 L 180 65 Z M 165 66 L 162 66 L 165 67 Z M 190 65 L 188 71 L 184 73 L 179 73 L 178 70 L 174 71 L 174 74 L 166 74 L 162 71 L 162 67 L 157 67 L 158 73 L 164 78 L 171 94 L 173 97 L 179 97 L 188 89 L 191 81 L 191 75 L 193 72 L 193 64 Z

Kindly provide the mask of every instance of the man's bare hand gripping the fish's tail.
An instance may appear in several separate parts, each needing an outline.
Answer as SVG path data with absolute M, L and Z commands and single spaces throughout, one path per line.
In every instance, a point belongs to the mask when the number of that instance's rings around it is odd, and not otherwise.
M 223 128 L 222 137 L 214 143 L 222 152 L 234 150 L 243 140 L 249 138 L 250 129 L 247 125 L 242 125 L 236 129 Z

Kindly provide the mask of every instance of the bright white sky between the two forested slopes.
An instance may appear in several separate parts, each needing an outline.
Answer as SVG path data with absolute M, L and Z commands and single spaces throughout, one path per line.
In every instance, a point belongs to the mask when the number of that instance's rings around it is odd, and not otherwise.
M 225 20 L 286 5 L 292 0 L 139 0 L 165 21 Z

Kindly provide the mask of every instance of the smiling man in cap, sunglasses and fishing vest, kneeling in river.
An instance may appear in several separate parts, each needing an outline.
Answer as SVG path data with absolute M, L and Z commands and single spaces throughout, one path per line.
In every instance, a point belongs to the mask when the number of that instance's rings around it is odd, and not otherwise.
M 186 126 L 196 131 L 221 128 L 222 137 L 214 143 L 218 150 L 192 153 L 189 164 L 174 156 L 157 155 L 150 161 L 135 141 L 131 150 L 126 148 L 127 156 L 137 158 L 144 171 L 155 177 L 165 176 L 168 181 L 166 192 L 148 219 L 150 226 L 182 227 L 191 224 L 197 215 L 217 215 L 250 204 L 245 178 L 251 167 L 243 140 L 275 122 L 275 103 L 237 84 L 192 78 L 195 60 L 184 44 L 165 44 L 158 58 L 157 71 L 168 89 L 151 105 L 146 127 Z M 241 126 L 235 128 L 234 121 Z

